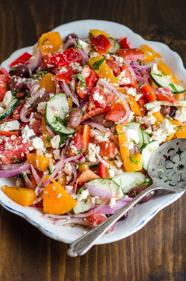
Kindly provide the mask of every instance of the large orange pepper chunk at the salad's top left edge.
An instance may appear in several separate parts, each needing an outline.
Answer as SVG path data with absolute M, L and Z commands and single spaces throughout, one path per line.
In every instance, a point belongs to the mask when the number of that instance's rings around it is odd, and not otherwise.
M 41 50 L 42 55 L 46 53 L 54 53 L 60 49 L 63 41 L 59 32 L 51 31 L 41 35 L 38 40 L 38 48 Z

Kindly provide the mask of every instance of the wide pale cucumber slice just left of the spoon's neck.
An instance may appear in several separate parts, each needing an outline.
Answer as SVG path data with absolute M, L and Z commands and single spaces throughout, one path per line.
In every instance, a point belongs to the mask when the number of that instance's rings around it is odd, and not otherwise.
M 115 175 L 113 181 L 122 188 L 124 193 L 127 193 L 136 185 L 144 183 L 146 176 L 140 172 L 123 172 L 122 174 Z

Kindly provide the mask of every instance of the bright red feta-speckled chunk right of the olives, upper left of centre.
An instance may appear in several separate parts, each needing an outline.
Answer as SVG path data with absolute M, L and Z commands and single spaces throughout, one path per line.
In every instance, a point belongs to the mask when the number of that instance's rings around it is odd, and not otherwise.
M 51 62 L 55 64 L 58 68 L 61 69 L 62 66 L 65 66 L 71 62 L 80 62 L 81 56 L 74 48 L 69 48 L 63 51 L 60 54 L 56 54 L 51 57 Z

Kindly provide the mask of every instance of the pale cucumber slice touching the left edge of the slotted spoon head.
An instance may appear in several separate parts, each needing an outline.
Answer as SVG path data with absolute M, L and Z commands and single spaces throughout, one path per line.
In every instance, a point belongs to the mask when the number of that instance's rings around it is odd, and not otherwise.
M 141 150 L 142 155 L 142 165 L 145 172 L 148 170 L 148 164 L 150 161 L 150 158 L 152 157 L 153 153 L 157 148 L 159 147 L 158 141 L 152 141 L 150 143 L 147 143 L 145 147 Z

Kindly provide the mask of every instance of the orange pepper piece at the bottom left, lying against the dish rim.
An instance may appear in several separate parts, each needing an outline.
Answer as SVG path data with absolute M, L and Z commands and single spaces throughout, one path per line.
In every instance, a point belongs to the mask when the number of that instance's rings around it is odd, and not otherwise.
M 21 206 L 30 206 L 37 199 L 35 191 L 31 188 L 3 185 L 2 190 L 12 201 Z

